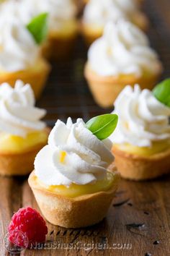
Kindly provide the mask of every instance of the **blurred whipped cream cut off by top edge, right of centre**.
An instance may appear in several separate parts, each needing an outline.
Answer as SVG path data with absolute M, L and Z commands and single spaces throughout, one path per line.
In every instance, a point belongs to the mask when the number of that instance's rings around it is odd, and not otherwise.
M 83 21 L 104 27 L 107 22 L 131 20 L 138 8 L 134 0 L 90 0 L 84 9 Z

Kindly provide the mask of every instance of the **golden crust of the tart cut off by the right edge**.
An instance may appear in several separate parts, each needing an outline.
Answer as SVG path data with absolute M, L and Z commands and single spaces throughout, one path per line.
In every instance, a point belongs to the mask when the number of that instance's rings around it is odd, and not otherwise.
M 125 179 L 154 179 L 170 172 L 170 149 L 150 156 L 126 153 L 113 146 L 115 166 Z

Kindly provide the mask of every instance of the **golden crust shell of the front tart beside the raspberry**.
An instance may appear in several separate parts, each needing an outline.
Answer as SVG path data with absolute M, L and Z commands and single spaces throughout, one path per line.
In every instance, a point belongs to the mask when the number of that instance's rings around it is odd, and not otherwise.
M 76 229 L 99 223 L 107 215 L 107 210 L 120 179 L 119 174 L 115 173 L 114 179 L 114 184 L 107 191 L 94 192 L 78 197 L 67 197 L 45 189 L 40 182 L 37 182 L 35 171 L 30 174 L 28 183 L 43 216 L 50 223 Z

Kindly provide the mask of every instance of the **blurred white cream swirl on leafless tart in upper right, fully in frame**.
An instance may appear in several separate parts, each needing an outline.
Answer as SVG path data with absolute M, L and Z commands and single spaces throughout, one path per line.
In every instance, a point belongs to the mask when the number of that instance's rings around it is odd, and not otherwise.
M 89 48 L 88 61 L 91 69 L 102 76 L 145 72 L 158 74 L 161 62 L 148 43 L 146 35 L 130 22 L 109 22 L 102 38 Z

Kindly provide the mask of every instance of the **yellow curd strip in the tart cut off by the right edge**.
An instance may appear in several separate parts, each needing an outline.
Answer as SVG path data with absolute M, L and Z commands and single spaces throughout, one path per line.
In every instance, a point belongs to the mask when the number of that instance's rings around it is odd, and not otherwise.
M 170 140 L 164 140 L 162 142 L 153 142 L 151 147 L 137 147 L 134 145 L 130 145 L 128 143 L 125 144 L 115 144 L 114 147 L 119 150 L 125 151 L 126 153 L 132 153 L 133 155 L 144 155 L 150 156 L 156 153 L 161 153 L 170 149 Z

